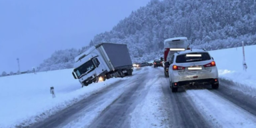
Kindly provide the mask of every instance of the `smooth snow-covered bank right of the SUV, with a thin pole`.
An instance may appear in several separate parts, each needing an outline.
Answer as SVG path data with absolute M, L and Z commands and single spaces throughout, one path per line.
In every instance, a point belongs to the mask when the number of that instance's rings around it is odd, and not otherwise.
M 235 83 L 241 83 L 243 86 L 256 89 L 256 45 L 245 47 L 245 61 L 247 63 L 247 71 L 243 71 L 243 48 L 221 49 L 209 51 L 215 59 L 219 69 L 219 77 L 227 79 Z

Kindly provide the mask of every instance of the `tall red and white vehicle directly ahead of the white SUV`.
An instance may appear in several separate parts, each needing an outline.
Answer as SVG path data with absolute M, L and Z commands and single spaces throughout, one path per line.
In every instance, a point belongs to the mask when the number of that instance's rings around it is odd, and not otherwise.
M 169 77 L 168 74 L 168 67 L 167 61 L 171 60 L 171 57 L 173 53 L 177 51 L 185 51 L 186 49 L 189 49 L 189 41 L 187 40 L 187 37 L 175 37 L 170 39 L 165 39 L 164 41 L 165 45 L 165 51 L 164 51 L 164 57 L 161 60 L 163 61 L 163 72 L 165 74 L 165 77 Z

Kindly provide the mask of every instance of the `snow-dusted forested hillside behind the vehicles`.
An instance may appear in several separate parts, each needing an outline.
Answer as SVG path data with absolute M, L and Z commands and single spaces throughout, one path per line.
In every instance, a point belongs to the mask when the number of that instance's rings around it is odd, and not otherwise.
M 255 32 L 255 1 L 152 0 L 79 51 L 101 42 L 125 43 L 133 62 L 142 62 L 159 59 L 167 38 L 187 37 L 194 48 L 215 50 L 241 46 L 241 41 L 255 45 Z

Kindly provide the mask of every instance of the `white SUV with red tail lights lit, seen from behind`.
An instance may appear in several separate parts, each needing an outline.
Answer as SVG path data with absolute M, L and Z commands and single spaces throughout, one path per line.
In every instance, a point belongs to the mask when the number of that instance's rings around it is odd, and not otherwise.
M 169 81 L 173 92 L 177 92 L 179 87 L 194 84 L 209 84 L 213 89 L 219 88 L 216 63 L 205 49 L 174 53 L 169 64 Z

